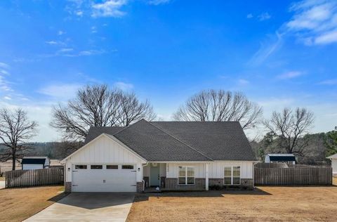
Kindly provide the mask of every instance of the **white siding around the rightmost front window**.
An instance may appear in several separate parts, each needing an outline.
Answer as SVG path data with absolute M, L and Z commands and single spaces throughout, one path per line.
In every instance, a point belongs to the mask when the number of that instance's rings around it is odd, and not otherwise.
M 223 178 L 225 166 L 240 166 L 241 178 L 253 178 L 251 161 L 215 161 L 209 164 L 209 178 Z

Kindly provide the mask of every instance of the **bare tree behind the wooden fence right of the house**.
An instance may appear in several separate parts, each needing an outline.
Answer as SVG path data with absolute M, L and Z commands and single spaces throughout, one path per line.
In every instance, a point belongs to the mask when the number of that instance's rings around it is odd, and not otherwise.
M 271 119 L 265 119 L 263 124 L 277 138 L 279 148 L 303 156 L 308 146 L 304 136 L 312 127 L 314 119 L 314 114 L 305 108 L 297 107 L 294 111 L 284 108 L 282 112 L 272 112 Z

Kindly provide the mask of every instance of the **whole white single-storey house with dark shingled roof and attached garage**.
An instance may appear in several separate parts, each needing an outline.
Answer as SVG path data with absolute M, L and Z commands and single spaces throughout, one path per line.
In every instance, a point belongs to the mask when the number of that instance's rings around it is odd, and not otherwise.
M 66 192 L 253 188 L 255 157 L 239 122 L 139 122 L 91 127 L 62 160 Z

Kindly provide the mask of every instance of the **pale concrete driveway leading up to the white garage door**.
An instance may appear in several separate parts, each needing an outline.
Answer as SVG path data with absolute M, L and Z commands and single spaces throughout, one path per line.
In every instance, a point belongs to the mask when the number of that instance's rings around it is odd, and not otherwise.
M 125 221 L 131 193 L 72 193 L 26 221 Z

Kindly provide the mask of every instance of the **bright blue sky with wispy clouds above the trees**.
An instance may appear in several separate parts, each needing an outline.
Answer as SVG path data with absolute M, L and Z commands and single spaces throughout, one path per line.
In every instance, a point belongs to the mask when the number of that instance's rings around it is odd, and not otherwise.
M 24 107 L 37 141 L 60 138 L 52 105 L 96 83 L 135 91 L 166 120 L 201 89 L 225 89 L 265 117 L 300 106 L 312 132 L 337 126 L 337 1 L 0 1 L 0 30 L 0 106 Z

